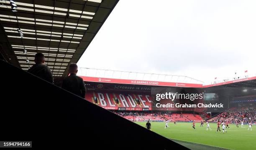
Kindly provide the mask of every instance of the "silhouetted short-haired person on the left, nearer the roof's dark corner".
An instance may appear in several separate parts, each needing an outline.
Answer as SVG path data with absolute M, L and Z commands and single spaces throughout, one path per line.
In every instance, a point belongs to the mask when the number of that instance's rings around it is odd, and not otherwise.
M 28 72 L 50 83 L 54 83 L 51 70 L 48 66 L 44 64 L 44 54 L 36 53 L 34 61 L 36 64 L 34 64 L 30 69 L 28 69 Z

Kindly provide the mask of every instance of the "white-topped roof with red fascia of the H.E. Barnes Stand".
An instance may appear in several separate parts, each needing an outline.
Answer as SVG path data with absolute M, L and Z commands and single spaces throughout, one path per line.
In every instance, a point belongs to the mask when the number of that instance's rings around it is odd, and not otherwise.
M 131 71 L 79 68 L 77 75 L 84 81 L 158 86 L 202 87 L 203 82 L 188 76 L 149 74 Z

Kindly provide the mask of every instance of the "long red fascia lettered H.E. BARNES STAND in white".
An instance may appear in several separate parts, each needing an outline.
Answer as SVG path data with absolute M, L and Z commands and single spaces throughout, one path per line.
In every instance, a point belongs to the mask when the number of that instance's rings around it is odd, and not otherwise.
M 160 82 L 160 81 L 143 81 L 143 80 L 127 80 L 127 79 L 110 79 L 110 78 L 97 78 L 97 77 L 88 77 L 88 76 L 80 76 L 80 77 L 84 81 L 90 81 L 90 82 L 202 88 L 202 84 Z

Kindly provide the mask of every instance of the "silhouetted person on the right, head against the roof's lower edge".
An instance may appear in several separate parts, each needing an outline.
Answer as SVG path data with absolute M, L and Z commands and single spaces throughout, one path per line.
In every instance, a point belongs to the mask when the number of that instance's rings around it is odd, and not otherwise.
M 67 76 L 62 83 L 62 88 L 66 89 L 69 92 L 72 92 L 79 97 L 84 98 L 85 97 L 85 86 L 84 81 L 82 78 L 77 76 L 77 64 L 71 63 L 69 64 L 69 74 L 70 76 Z

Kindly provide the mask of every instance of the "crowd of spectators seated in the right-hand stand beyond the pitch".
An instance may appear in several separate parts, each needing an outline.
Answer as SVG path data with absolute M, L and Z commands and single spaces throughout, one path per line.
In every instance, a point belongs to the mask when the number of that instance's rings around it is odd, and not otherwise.
M 227 122 L 256 122 L 256 107 L 231 108 L 217 116 L 214 121 L 225 120 Z

